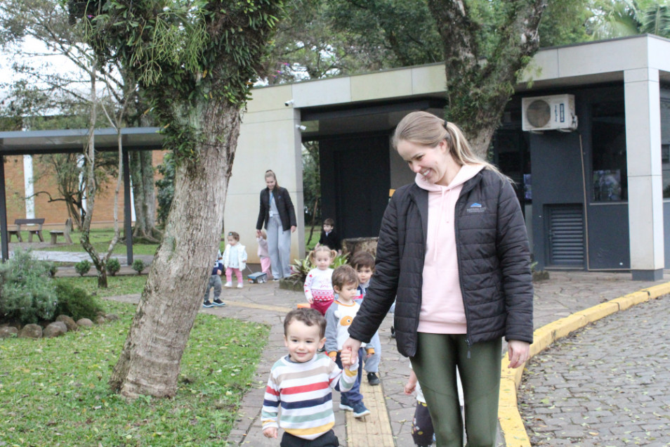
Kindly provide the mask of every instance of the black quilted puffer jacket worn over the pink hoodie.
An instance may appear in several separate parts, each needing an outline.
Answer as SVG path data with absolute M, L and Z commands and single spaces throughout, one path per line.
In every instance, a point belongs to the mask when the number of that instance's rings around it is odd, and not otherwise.
M 505 336 L 532 343 L 530 250 L 512 186 L 483 170 L 464 183 L 456 202 L 456 255 L 468 343 Z M 395 191 L 381 222 L 376 271 L 349 335 L 369 342 L 395 304 L 398 351 L 416 354 L 428 191 L 415 183 Z

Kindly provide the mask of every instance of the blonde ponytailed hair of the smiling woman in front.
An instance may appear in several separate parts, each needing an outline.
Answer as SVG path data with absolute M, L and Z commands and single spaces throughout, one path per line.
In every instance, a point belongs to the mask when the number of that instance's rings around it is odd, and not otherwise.
M 393 132 L 393 148 L 395 150 L 398 150 L 400 141 L 409 141 L 428 148 L 435 148 L 442 140 L 447 141 L 449 152 L 459 166 L 483 164 L 485 169 L 494 171 L 499 176 L 507 179 L 507 176 L 501 174 L 497 167 L 473 153 L 463 131 L 456 124 L 436 117 L 432 113 L 410 112 L 400 120 L 398 126 L 395 127 L 395 132 Z

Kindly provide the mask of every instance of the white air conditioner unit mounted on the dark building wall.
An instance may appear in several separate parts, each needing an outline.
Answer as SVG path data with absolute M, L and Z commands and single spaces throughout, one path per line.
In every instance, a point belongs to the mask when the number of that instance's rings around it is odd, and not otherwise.
M 525 131 L 574 131 L 577 129 L 574 95 L 521 98 L 521 119 Z

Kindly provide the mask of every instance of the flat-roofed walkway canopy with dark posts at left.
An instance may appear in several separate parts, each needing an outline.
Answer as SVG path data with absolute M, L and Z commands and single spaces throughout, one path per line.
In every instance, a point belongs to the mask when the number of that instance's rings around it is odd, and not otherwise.
M 124 167 L 124 231 L 126 233 L 126 255 L 128 265 L 133 264 L 133 228 L 131 221 L 131 181 L 128 166 L 131 150 L 162 150 L 163 136 L 157 127 L 129 127 L 121 129 L 122 157 Z M 117 151 L 116 129 L 96 129 L 96 150 Z M 7 202 L 5 188 L 5 155 L 39 155 L 53 153 L 84 153 L 88 129 L 48 131 L 0 132 L 0 242 L 2 260 L 9 259 L 9 237 L 7 233 Z

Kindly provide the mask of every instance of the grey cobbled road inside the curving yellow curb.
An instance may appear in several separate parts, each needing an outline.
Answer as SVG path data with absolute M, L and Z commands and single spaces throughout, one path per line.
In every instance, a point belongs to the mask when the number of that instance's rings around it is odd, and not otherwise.
M 670 297 L 560 340 L 521 387 L 533 446 L 670 446 Z

